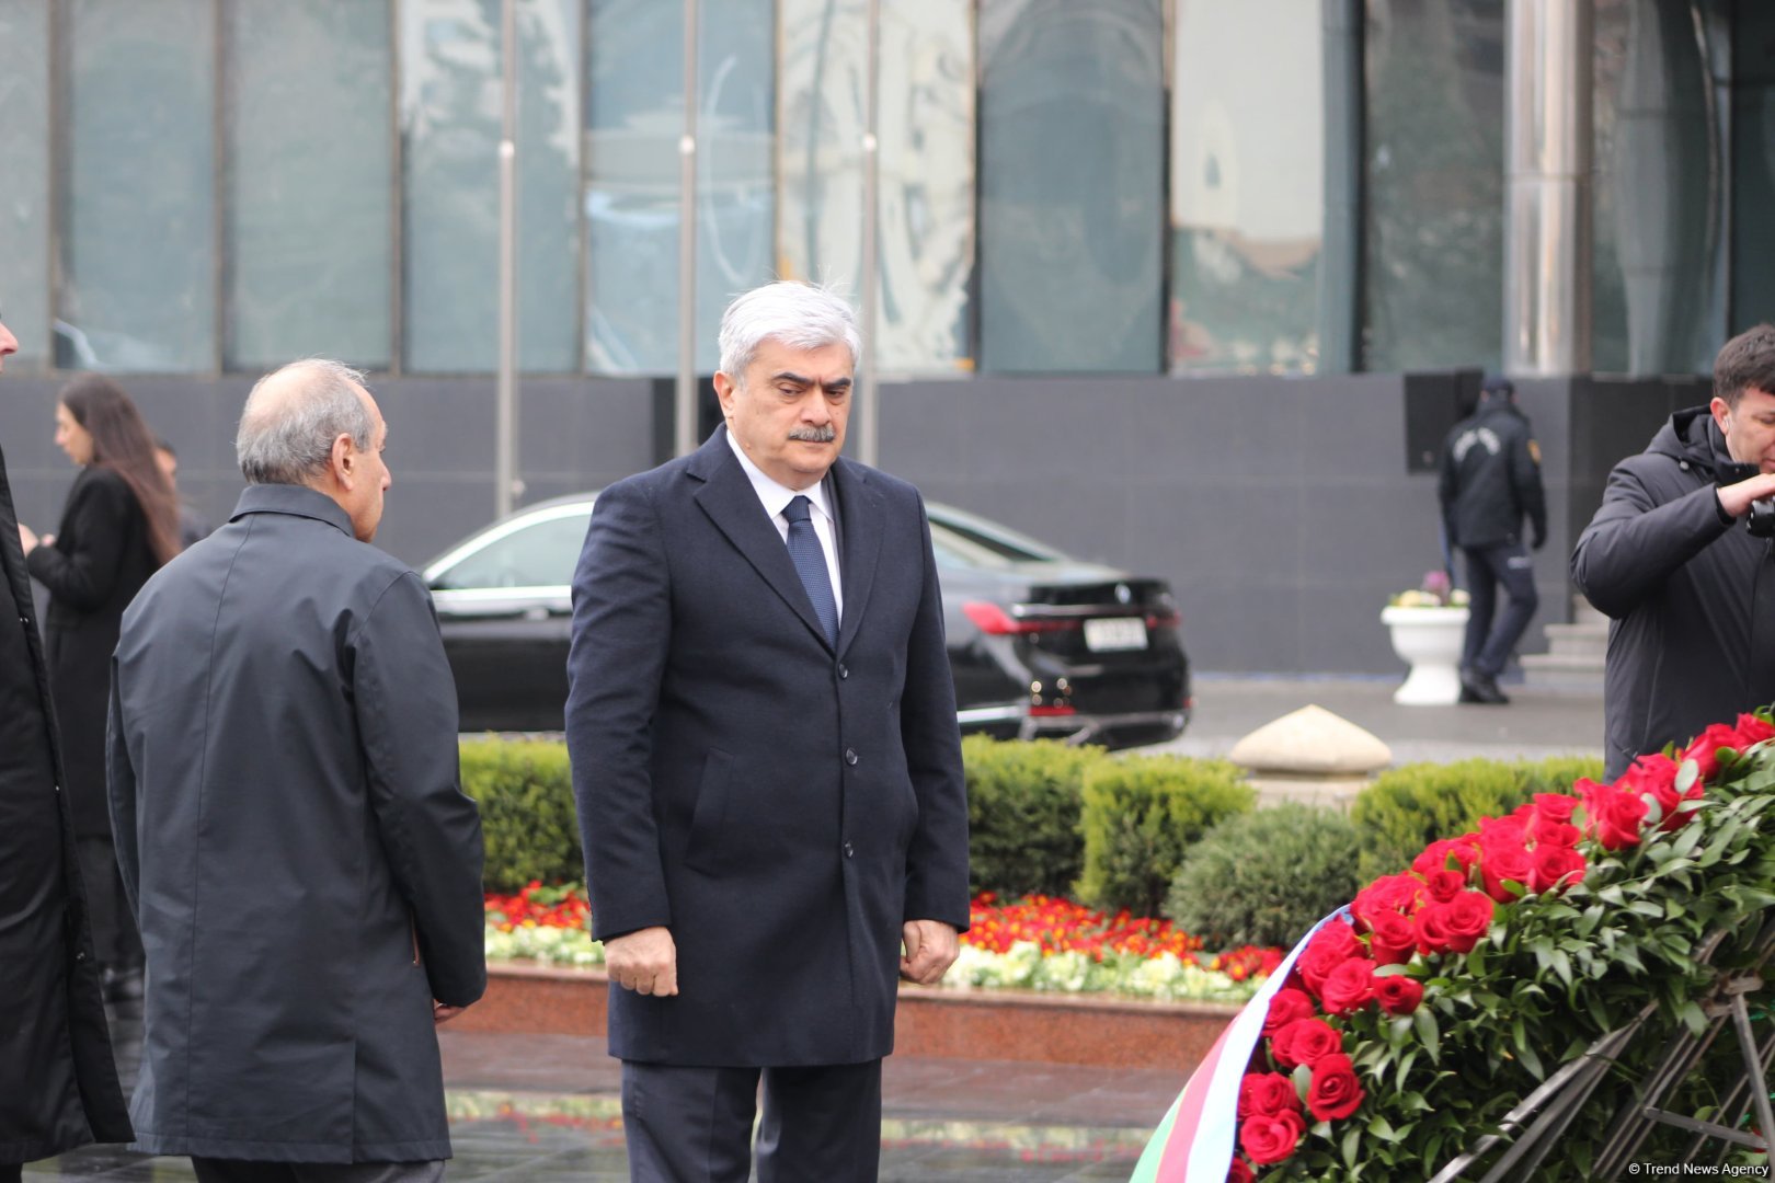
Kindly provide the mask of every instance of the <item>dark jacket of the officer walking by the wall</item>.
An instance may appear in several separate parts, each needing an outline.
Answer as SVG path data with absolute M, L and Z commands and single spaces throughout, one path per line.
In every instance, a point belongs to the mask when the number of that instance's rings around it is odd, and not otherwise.
M 1523 541 L 1523 518 L 1539 546 L 1548 534 L 1541 452 L 1528 419 L 1505 397 L 1487 397 L 1443 443 L 1436 486 L 1450 546 L 1482 550 Z

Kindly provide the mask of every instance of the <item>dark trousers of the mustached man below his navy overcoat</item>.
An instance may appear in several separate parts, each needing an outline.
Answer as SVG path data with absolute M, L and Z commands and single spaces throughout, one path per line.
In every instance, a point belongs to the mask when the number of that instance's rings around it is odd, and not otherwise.
M 676 1068 L 623 1061 L 630 1181 L 746 1183 L 760 1093 L 758 1183 L 875 1181 L 880 1169 L 880 1061 L 822 1068 Z

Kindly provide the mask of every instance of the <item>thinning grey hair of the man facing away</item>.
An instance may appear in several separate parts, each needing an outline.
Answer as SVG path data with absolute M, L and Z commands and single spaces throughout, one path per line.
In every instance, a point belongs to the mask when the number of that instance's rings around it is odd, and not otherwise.
M 362 383 L 362 371 L 323 358 L 291 362 L 256 381 L 234 436 L 247 484 L 307 484 L 327 470 L 341 435 L 367 450 L 375 420 Z

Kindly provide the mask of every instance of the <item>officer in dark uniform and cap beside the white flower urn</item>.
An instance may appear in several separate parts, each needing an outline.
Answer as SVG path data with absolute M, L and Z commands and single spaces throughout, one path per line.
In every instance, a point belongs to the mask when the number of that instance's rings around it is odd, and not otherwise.
M 1466 559 L 1471 596 L 1461 701 L 1509 702 L 1498 690 L 1498 674 L 1535 614 L 1534 559 L 1523 548 L 1523 518 L 1534 529 L 1530 546 L 1541 550 L 1548 541 L 1548 507 L 1541 447 L 1528 417 L 1516 408 L 1516 387 L 1507 378 L 1487 376 L 1479 408 L 1448 433 L 1436 493 L 1448 543 Z M 1502 614 L 1496 612 L 1500 585 Z

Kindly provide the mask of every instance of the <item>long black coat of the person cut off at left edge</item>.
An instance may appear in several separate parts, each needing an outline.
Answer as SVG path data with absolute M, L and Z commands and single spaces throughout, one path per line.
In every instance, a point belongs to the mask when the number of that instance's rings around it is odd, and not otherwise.
M 131 1137 L 60 784 L 0 458 L 0 1163 Z

